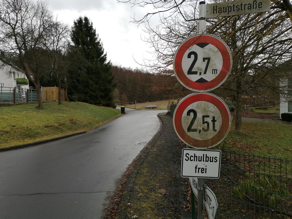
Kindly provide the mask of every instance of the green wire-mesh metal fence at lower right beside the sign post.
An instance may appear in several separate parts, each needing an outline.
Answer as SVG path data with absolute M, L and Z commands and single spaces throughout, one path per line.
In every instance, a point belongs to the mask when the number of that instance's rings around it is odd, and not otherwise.
M 292 160 L 222 152 L 216 218 L 292 218 Z

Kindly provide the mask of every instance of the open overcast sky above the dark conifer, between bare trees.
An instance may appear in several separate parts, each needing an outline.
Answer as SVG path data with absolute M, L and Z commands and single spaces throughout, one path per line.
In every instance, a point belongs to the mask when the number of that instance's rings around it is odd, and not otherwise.
M 99 34 L 108 60 L 114 65 L 140 68 L 133 57 L 139 63 L 143 63 L 143 58 L 152 58 L 147 53 L 150 45 L 141 40 L 142 26 L 138 28 L 130 22 L 134 15 L 145 15 L 146 8 L 131 7 L 116 0 L 49 0 L 49 6 L 58 20 L 70 26 L 74 19 L 86 15 Z

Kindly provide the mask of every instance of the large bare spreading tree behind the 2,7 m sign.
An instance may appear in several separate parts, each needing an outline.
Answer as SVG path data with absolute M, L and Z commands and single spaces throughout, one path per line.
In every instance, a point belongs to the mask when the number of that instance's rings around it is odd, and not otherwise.
M 152 5 L 154 12 L 133 22 L 145 24 L 145 39 L 154 51 L 154 59 L 145 65 L 152 68 L 171 68 L 173 55 L 180 43 L 197 32 L 198 1 L 158 0 L 124 1 L 137 6 Z M 213 1 L 214 2 L 214 1 Z M 211 2 L 211 3 L 213 3 Z M 160 22 L 151 27 L 153 15 Z M 271 11 L 207 20 L 207 33 L 223 39 L 230 47 L 232 71 L 220 89 L 236 100 L 235 131 L 241 132 L 241 108 L 244 95 L 263 95 L 279 92 L 281 74 L 274 67 L 292 58 L 292 20 L 289 1 L 271 1 Z M 281 73 L 281 74 L 280 74 Z M 270 80 L 274 79 L 274 80 Z M 220 89 L 215 92 L 219 92 Z

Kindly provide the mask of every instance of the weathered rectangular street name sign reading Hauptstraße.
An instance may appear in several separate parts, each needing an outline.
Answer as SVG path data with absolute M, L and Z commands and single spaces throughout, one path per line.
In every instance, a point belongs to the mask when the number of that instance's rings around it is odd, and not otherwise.
M 206 18 L 270 11 L 270 0 L 234 0 L 206 5 Z

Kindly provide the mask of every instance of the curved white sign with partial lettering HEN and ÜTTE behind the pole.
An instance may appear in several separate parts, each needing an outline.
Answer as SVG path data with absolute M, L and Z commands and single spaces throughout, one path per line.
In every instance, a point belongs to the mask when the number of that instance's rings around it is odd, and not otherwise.
M 198 197 L 198 178 L 190 177 L 189 180 L 195 196 Z M 205 183 L 203 193 L 203 205 L 208 213 L 208 218 L 214 219 L 218 208 L 218 202 L 214 192 L 208 186 L 206 186 Z

